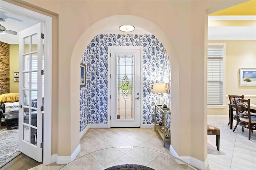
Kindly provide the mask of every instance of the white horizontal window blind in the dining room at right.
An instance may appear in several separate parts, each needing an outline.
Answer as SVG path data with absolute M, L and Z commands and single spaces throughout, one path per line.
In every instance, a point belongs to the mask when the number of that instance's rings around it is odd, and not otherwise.
M 224 105 L 224 45 L 208 45 L 207 104 Z

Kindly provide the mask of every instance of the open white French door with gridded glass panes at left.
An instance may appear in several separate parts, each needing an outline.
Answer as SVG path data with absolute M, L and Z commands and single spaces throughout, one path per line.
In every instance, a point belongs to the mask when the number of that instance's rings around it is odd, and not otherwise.
M 19 150 L 42 162 L 43 39 L 42 24 L 20 32 Z

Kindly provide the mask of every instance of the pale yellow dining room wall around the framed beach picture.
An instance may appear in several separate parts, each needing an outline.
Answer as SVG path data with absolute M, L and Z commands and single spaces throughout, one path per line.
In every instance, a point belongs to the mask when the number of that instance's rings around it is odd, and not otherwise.
M 239 69 L 256 68 L 256 40 L 209 40 L 226 43 L 226 107 L 208 108 L 208 115 L 228 115 L 228 95 L 244 95 L 256 103 L 255 86 L 239 86 Z

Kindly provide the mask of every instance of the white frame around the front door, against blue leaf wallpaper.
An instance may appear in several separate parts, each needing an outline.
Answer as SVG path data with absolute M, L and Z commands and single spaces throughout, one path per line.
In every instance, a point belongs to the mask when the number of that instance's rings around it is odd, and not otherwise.
M 111 108 L 111 100 L 110 100 L 110 53 L 111 49 L 140 49 L 140 128 L 143 125 L 143 47 L 142 46 L 108 46 L 108 128 L 110 125 L 110 108 Z M 115 102 L 115 101 L 114 101 Z

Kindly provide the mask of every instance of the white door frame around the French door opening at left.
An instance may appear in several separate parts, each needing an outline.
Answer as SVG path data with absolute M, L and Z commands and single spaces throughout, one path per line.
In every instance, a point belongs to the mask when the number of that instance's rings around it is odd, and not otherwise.
M 44 131 L 43 164 L 52 163 L 52 17 L 1 0 L 0 9 L 44 23 Z M 47 113 L 47 114 L 46 114 Z

